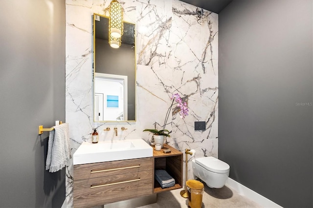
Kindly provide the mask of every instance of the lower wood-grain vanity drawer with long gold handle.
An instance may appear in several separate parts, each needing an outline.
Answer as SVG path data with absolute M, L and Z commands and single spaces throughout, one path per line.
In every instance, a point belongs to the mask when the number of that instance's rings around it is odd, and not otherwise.
M 74 207 L 94 207 L 152 194 L 153 170 L 74 180 Z

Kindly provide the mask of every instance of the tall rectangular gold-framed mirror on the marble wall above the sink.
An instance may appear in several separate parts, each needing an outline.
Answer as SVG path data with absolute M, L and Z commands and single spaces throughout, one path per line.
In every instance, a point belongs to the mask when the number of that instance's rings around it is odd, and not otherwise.
M 135 24 L 124 21 L 119 48 L 109 44 L 109 17 L 94 14 L 94 121 L 135 121 Z

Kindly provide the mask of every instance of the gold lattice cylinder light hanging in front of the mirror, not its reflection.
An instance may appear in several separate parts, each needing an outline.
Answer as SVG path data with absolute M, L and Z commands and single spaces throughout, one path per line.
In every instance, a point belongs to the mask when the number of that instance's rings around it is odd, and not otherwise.
M 109 37 L 120 38 L 123 35 L 123 10 L 121 4 L 113 0 L 110 4 Z

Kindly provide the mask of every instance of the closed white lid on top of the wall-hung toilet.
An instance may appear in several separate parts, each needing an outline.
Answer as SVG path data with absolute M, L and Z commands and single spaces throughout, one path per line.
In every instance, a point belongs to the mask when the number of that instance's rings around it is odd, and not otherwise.
M 207 170 L 216 173 L 226 173 L 229 171 L 229 165 L 215 157 L 201 157 L 195 159 L 196 163 Z

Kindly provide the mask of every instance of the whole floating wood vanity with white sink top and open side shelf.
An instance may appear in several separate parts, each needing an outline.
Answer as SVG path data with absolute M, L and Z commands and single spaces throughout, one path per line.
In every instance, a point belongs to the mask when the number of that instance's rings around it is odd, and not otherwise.
M 123 144 L 111 143 L 109 148 L 105 143 L 83 143 L 74 153 L 75 208 L 95 207 L 182 188 L 180 151 L 168 145 L 164 145 L 164 148 L 171 149 L 171 153 L 156 151 L 141 139 L 117 142 L 131 145 L 125 147 Z M 114 146 L 116 147 L 113 148 Z M 136 151 L 132 153 L 134 149 Z M 142 157 L 138 158 L 138 152 L 142 153 Z M 126 159 L 121 159 L 121 155 Z M 104 162 L 100 162 L 101 160 Z M 155 169 L 165 169 L 175 179 L 175 186 L 161 188 L 154 179 Z

